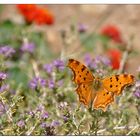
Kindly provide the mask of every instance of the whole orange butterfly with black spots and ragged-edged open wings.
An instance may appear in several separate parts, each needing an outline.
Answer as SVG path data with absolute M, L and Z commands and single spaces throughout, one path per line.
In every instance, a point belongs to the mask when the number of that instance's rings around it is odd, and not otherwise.
M 131 74 L 96 78 L 85 65 L 74 59 L 69 59 L 67 66 L 73 71 L 79 101 L 97 110 L 106 111 L 107 106 L 114 101 L 114 96 L 121 95 L 122 90 L 135 81 Z

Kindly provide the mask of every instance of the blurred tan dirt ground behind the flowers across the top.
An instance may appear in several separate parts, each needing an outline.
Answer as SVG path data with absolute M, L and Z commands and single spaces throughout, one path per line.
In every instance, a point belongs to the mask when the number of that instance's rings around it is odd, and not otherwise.
M 55 16 L 53 26 L 45 26 L 49 42 L 58 51 L 61 48 L 60 30 L 66 29 L 75 21 L 84 23 L 89 27 L 89 32 L 99 24 L 101 18 L 106 18 L 101 22 L 101 26 L 106 24 L 117 25 L 128 41 L 131 35 L 135 35 L 133 47 L 140 51 L 140 5 L 41 5 L 47 6 Z M 1 19 L 11 19 L 14 22 L 22 22 L 21 15 L 18 14 L 15 5 L 5 5 Z M 15 16 L 16 15 L 16 16 Z M 136 56 L 129 61 L 132 65 L 130 72 L 135 73 L 140 66 L 140 56 Z

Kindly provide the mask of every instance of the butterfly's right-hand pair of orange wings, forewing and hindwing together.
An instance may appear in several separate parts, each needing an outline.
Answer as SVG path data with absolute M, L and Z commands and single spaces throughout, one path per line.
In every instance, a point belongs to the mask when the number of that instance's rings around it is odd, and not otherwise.
M 102 80 L 102 88 L 97 91 L 93 102 L 93 108 L 106 110 L 106 107 L 114 101 L 114 95 L 120 95 L 124 87 L 134 83 L 131 74 L 113 75 Z

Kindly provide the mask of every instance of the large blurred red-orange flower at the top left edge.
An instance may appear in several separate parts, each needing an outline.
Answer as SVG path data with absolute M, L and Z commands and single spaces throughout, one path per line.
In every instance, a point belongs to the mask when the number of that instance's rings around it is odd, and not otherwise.
M 18 4 L 17 8 L 28 23 L 35 22 L 38 25 L 54 23 L 54 17 L 48 9 L 35 4 Z

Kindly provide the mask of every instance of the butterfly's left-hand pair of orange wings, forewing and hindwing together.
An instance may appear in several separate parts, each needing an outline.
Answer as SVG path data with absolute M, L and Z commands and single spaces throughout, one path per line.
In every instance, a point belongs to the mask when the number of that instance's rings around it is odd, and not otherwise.
M 94 76 L 85 65 L 77 60 L 69 59 L 68 67 L 72 69 L 73 81 L 78 85 L 76 92 L 79 95 L 79 101 L 88 106 L 95 97 L 92 86 Z

